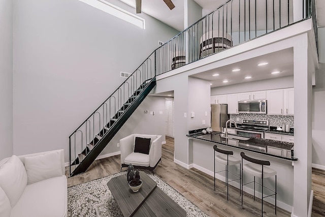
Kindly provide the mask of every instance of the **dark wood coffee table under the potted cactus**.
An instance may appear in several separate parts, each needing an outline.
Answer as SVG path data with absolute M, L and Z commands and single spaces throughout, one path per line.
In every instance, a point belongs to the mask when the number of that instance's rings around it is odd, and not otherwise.
M 159 188 L 146 173 L 140 171 L 142 187 L 133 192 L 127 184 L 126 175 L 112 178 L 110 189 L 123 216 L 186 216 L 186 211 Z

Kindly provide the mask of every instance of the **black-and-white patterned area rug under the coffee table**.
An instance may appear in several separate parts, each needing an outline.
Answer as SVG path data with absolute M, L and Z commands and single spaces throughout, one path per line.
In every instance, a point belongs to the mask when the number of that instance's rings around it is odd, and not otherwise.
M 68 188 L 68 216 L 123 216 L 107 187 L 107 182 L 111 178 L 125 173 L 125 171 L 119 172 Z M 208 216 L 157 175 L 147 172 L 146 174 L 157 182 L 159 189 L 163 190 L 186 211 L 187 216 Z

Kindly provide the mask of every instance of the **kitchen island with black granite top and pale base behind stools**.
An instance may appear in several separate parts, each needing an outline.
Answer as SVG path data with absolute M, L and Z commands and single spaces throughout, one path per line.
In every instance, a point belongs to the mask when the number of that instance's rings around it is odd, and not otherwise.
M 240 152 L 245 152 L 249 157 L 267 160 L 271 163 L 271 168 L 277 171 L 277 206 L 287 211 L 292 211 L 293 192 L 294 192 L 294 162 L 298 159 L 294 157 L 294 143 L 274 141 L 254 137 L 244 137 L 228 134 L 228 138 L 222 132 L 213 131 L 211 134 L 203 134 L 201 130 L 190 131 L 186 135 L 189 138 L 189 145 L 192 146 L 192 166 L 209 175 L 214 176 L 214 149 L 217 145 L 224 150 L 234 152 L 234 157 L 241 159 Z M 290 154 L 288 154 L 290 153 Z M 216 153 L 219 154 L 219 153 Z M 244 161 L 244 164 L 247 162 Z M 216 171 L 224 170 L 224 165 L 216 164 Z M 239 174 L 239 166 L 231 166 L 229 171 Z M 224 173 L 216 174 L 216 178 L 225 180 Z M 230 179 L 233 179 L 230 175 Z M 247 183 L 253 179 L 252 176 L 244 173 L 243 181 Z M 258 182 L 261 180 L 258 180 Z M 234 187 L 239 189 L 239 182 L 231 182 Z M 274 188 L 274 178 L 265 179 L 266 187 Z M 213 186 L 211 186 L 213 188 Z M 243 189 L 249 194 L 253 194 L 253 185 L 246 185 Z M 216 189 L 217 191 L 217 189 Z M 256 185 L 256 196 L 261 198 L 261 188 Z M 265 191 L 265 195 L 269 192 Z M 238 200 L 240 197 L 238 196 Z M 244 199 L 245 200 L 245 199 Z M 266 198 L 266 201 L 274 204 L 274 197 Z

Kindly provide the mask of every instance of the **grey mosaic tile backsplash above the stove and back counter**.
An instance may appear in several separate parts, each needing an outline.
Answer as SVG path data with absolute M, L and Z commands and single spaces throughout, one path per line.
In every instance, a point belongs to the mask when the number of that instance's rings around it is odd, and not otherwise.
M 267 115 L 267 114 L 231 114 L 230 119 L 236 123 L 241 123 L 243 119 L 250 120 L 269 120 L 270 126 L 280 126 L 286 123 L 290 128 L 294 128 L 294 116 L 291 115 Z M 238 119 L 238 120 L 237 120 Z

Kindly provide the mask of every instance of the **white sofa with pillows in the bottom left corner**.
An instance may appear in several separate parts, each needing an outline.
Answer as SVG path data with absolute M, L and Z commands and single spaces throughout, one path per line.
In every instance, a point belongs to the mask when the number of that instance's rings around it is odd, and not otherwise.
M 62 150 L 0 161 L 1 217 L 61 217 L 68 214 Z

